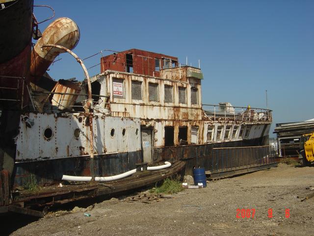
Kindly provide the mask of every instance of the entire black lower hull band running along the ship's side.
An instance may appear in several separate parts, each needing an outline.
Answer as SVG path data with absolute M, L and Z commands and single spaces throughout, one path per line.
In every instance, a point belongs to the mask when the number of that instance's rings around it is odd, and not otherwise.
M 267 140 L 268 136 L 265 136 L 260 139 L 248 141 L 154 148 L 154 163 L 184 160 L 186 162 L 186 174 L 191 174 L 194 166 L 205 167 L 207 170 L 212 169 L 213 166 L 217 166 L 213 161 L 217 155 L 213 153 L 213 148 L 262 146 L 266 144 Z M 237 156 L 235 158 L 240 160 L 241 157 Z M 135 169 L 135 164 L 141 162 L 141 150 L 95 156 L 95 169 L 97 170 L 95 175 L 118 175 Z M 242 162 L 234 161 L 234 165 Z M 16 163 L 13 186 L 26 186 L 34 177 L 38 185 L 52 184 L 61 181 L 62 175 L 91 176 L 90 157 L 81 156 Z

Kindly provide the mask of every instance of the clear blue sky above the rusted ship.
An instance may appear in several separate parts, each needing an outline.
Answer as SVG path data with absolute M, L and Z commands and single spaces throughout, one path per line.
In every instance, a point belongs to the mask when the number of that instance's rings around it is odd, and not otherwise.
M 268 107 L 275 123 L 314 118 L 314 0 L 81 1 L 34 0 L 80 29 L 74 52 L 138 48 L 198 66 L 203 103 Z M 50 15 L 35 7 L 38 20 Z M 40 25 L 43 31 L 48 24 Z M 55 79 L 84 78 L 70 55 L 50 67 Z M 99 57 L 85 61 L 90 67 Z M 89 70 L 100 72 L 100 66 Z M 272 132 L 273 130 L 271 130 Z

